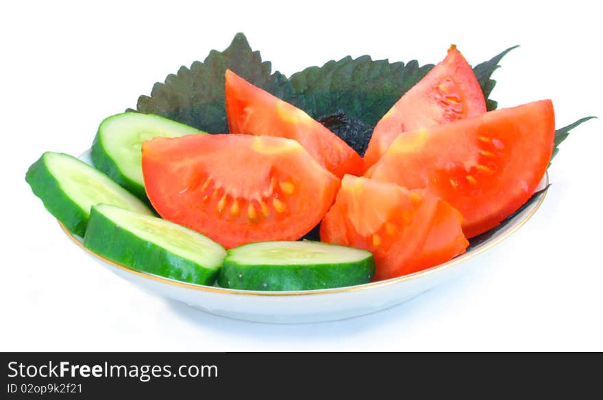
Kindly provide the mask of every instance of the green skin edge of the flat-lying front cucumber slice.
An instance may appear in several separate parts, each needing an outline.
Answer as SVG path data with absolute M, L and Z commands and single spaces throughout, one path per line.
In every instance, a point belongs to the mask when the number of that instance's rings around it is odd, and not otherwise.
M 227 250 L 228 252 L 230 250 Z M 375 260 L 373 256 L 358 263 L 349 263 L 349 265 L 276 266 L 240 265 L 230 261 L 227 254 L 218 277 L 218 284 L 229 289 L 304 291 L 363 284 L 369 282 L 374 274 Z

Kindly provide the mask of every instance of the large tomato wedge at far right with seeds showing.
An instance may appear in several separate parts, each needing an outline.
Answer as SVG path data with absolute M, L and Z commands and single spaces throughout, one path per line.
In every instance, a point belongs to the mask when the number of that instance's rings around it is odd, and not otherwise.
M 467 237 L 524 204 L 549 164 L 555 135 L 550 100 L 399 135 L 366 176 L 426 188 L 463 214 Z

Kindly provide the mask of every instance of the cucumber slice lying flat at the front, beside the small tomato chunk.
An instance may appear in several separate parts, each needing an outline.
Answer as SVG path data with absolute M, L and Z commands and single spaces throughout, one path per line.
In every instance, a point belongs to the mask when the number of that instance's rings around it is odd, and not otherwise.
M 367 283 L 373 254 L 317 241 L 264 241 L 227 251 L 218 283 L 231 289 L 299 291 Z

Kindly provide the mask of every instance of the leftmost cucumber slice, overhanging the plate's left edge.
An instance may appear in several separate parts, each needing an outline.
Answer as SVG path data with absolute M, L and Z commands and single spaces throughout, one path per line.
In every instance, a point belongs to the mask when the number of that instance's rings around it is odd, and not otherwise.
M 136 196 L 111 179 L 70 155 L 45 152 L 25 174 L 32 187 L 52 215 L 75 235 L 84 236 L 90 207 L 107 203 L 153 214 Z

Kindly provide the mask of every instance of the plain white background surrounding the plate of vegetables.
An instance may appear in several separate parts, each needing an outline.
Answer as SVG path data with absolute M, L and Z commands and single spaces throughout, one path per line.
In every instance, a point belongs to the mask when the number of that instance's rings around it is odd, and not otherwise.
M 495 72 L 499 107 L 552 98 L 557 126 L 603 117 L 596 2 L 16 3 L 0 10 L 0 350 L 603 350 L 601 120 L 562 145 L 543 206 L 480 269 L 333 323 L 246 323 L 143 293 L 75 248 L 24 180 L 237 31 L 286 75 L 348 54 L 435 63 L 450 43 L 475 64 L 521 44 Z

